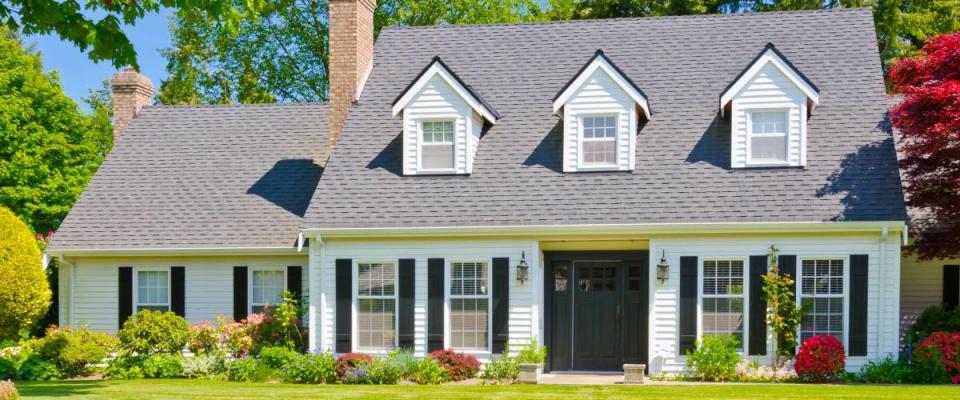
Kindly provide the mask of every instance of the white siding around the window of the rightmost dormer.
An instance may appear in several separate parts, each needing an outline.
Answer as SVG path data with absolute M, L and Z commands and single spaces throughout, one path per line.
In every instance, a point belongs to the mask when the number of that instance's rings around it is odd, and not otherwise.
M 805 119 L 806 95 L 772 64 L 760 69 L 744 88 L 733 98 L 730 117 L 730 157 L 733 168 L 748 167 L 747 164 L 747 112 L 751 109 L 788 110 L 787 160 L 791 166 L 806 164 Z

